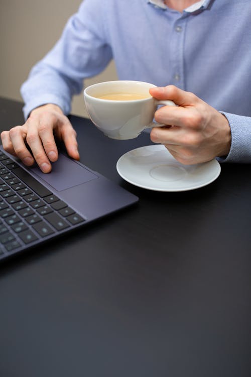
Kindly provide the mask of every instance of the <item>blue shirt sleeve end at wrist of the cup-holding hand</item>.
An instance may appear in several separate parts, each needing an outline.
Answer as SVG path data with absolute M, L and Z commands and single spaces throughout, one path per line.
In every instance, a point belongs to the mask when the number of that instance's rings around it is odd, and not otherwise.
M 231 147 L 225 158 L 218 157 L 219 162 L 251 162 L 251 118 L 240 115 L 223 114 L 231 129 Z

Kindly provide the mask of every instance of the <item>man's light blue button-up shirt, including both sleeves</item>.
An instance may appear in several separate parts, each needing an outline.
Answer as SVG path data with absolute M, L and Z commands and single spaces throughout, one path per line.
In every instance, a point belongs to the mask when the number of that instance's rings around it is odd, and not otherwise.
M 222 112 L 224 161 L 251 162 L 250 0 L 202 0 L 182 14 L 162 0 L 84 0 L 22 85 L 25 117 L 46 103 L 69 114 L 84 79 L 112 58 L 121 80 L 175 84 Z

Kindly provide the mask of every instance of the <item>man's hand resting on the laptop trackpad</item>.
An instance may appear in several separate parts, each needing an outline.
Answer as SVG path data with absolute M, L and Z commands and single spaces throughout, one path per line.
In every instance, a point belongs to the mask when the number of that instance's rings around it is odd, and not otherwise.
M 79 160 L 76 131 L 57 105 L 40 106 L 31 112 L 23 126 L 1 133 L 2 144 L 7 152 L 18 156 L 28 166 L 36 160 L 44 173 L 51 171 L 50 161 L 58 159 L 54 136 L 65 143 L 70 157 Z

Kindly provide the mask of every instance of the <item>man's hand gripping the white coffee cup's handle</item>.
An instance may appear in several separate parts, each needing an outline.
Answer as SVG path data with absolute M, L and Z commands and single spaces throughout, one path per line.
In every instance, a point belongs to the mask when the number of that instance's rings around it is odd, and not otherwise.
M 164 144 L 179 162 L 188 165 L 226 156 L 231 146 L 231 131 L 224 115 L 174 85 L 154 87 L 150 93 L 158 100 L 171 100 L 178 106 L 163 106 L 155 120 L 166 127 L 154 127 L 151 140 Z

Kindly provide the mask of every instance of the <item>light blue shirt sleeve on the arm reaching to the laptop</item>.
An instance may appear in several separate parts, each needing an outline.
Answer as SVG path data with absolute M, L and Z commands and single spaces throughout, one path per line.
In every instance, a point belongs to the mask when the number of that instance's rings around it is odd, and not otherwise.
M 101 0 L 84 0 L 67 22 L 53 49 L 31 70 L 21 86 L 24 116 L 41 105 L 53 103 L 69 114 L 72 96 L 83 80 L 101 72 L 112 58 L 105 38 Z

